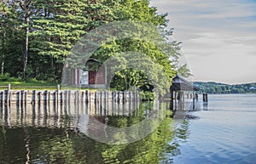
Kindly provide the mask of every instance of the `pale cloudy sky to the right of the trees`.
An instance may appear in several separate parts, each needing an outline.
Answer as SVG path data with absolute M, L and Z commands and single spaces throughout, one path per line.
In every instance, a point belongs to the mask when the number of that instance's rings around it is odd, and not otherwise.
M 256 0 L 151 0 L 168 13 L 194 82 L 256 82 Z

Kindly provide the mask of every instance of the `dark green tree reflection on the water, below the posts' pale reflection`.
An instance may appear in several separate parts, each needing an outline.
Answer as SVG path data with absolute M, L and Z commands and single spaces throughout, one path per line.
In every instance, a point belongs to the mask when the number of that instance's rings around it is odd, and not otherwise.
M 131 116 L 108 116 L 108 125 L 127 127 L 141 122 L 153 110 L 152 106 L 142 104 Z M 160 108 L 167 109 L 167 106 L 162 104 Z M 25 163 L 26 137 L 29 135 L 30 163 L 172 163 L 173 157 L 181 153 L 179 143 L 188 138 L 189 122 L 184 120 L 174 130 L 172 111 L 165 111 L 166 117 L 153 133 L 131 144 L 96 142 L 75 130 L 72 116 L 60 116 L 60 127 L 27 126 L 24 131 L 24 127 L 0 125 L 0 160 Z M 125 138 L 121 133 L 115 135 Z

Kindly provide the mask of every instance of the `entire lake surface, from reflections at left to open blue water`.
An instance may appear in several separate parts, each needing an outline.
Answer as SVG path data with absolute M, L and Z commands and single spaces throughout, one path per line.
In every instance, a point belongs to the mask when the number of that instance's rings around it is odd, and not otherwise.
M 129 114 L 124 106 L 98 113 L 85 105 L 59 110 L 2 106 L 0 163 L 256 163 L 256 94 L 210 94 L 208 99 L 207 105 L 199 100 L 195 111 L 176 111 L 174 116 L 168 103 L 157 102 L 143 103 Z M 159 125 L 148 123 L 148 128 L 158 127 L 143 139 L 104 144 L 89 135 L 125 139 L 108 127 L 151 121 L 154 108 L 165 110 L 160 113 L 165 117 Z M 96 128 L 93 120 L 104 126 Z

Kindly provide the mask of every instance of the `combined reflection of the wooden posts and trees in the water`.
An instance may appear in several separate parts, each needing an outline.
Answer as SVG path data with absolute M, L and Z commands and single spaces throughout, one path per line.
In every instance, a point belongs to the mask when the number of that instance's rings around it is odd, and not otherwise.
M 133 106 L 133 107 L 132 107 Z M 3 163 L 172 163 L 180 154 L 178 141 L 186 140 L 188 122 L 173 130 L 172 111 L 168 103 L 160 126 L 146 138 L 131 144 L 102 144 L 90 139 L 95 126 L 91 118 L 105 127 L 96 129 L 106 135 L 106 128 L 130 127 L 154 112 L 154 103 L 119 105 L 111 110 L 81 102 L 63 105 L 3 105 L 0 108 L 0 161 Z M 134 108 L 136 107 L 136 108 Z M 79 123 L 83 120 L 83 126 Z M 84 124 L 84 122 L 86 122 Z M 86 126 L 84 126 L 86 125 Z M 109 134 L 108 134 L 109 135 Z M 114 134 L 120 135 L 122 133 Z

